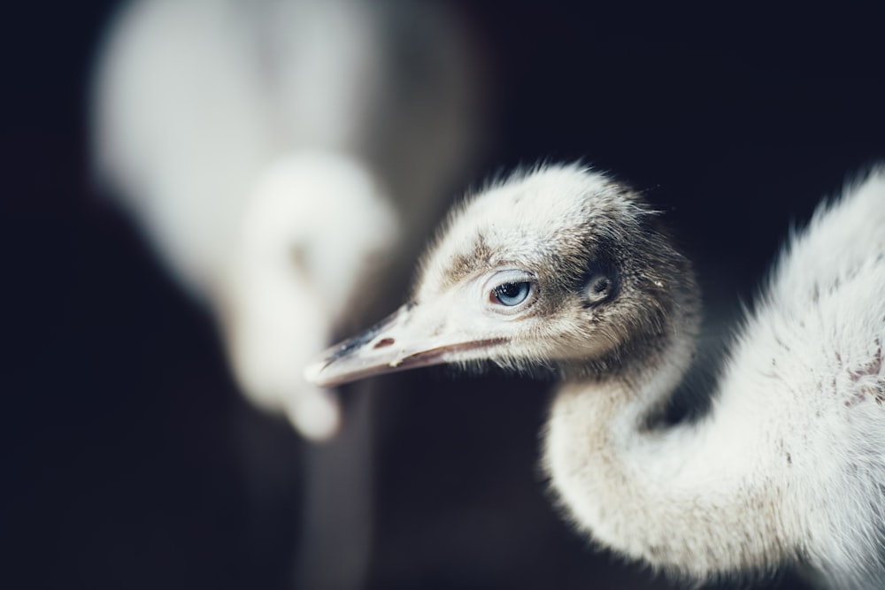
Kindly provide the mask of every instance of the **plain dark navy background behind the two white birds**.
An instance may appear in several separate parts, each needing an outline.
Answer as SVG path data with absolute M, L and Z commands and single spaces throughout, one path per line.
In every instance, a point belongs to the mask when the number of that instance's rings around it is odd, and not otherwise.
M 885 159 L 873 12 L 540 4 L 458 2 L 496 86 L 496 142 L 465 186 L 543 157 L 633 182 L 696 258 L 714 322 L 791 223 Z M 283 588 L 304 444 L 242 401 L 209 318 L 89 181 L 85 83 L 113 5 L 4 17 L 0 585 Z M 369 587 L 668 587 L 550 508 L 546 386 L 411 379 L 377 401 Z M 275 490 L 260 507 L 255 456 Z

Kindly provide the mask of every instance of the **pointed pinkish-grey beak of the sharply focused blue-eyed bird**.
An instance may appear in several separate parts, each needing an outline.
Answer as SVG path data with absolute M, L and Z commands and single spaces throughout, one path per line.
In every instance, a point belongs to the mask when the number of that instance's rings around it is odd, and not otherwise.
M 333 387 L 372 375 L 466 360 L 478 356 L 476 349 L 504 341 L 478 339 L 475 327 L 454 324 L 449 318 L 458 314 L 447 311 L 440 304 L 407 303 L 366 332 L 327 349 L 304 369 L 304 378 Z

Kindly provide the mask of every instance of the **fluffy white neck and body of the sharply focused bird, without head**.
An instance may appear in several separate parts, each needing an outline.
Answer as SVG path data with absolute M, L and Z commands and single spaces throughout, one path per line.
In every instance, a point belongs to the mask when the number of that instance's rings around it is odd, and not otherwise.
M 544 461 L 574 521 L 697 578 L 787 562 L 827 572 L 833 586 L 881 582 L 883 295 L 880 172 L 790 241 L 703 418 L 643 429 L 681 377 L 677 350 L 564 388 Z M 609 452 L 573 452 L 581 446 Z

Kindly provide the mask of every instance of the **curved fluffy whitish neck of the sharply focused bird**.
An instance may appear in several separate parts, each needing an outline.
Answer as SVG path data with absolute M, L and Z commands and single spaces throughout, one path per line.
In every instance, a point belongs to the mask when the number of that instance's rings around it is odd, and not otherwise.
M 694 579 L 768 571 L 789 558 L 794 527 L 752 413 L 722 412 L 718 395 L 698 420 L 650 426 L 694 352 L 693 330 L 666 338 L 614 377 L 561 387 L 544 448 L 552 487 L 575 525 L 622 555 Z

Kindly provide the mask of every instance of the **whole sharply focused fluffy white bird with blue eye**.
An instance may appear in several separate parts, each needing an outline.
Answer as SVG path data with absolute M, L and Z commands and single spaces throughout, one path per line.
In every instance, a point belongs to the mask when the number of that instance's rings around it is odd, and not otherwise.
M 709 408 L 669 423 L 699 318 L 691 265 L 639 195 L 543 166 L 455 211 L 410 303 L 305 376 L 553 369 L 543 465 L 592 539 L 699 581 L 795 566 L 885 586 L 885 168 L 793 235 Z

